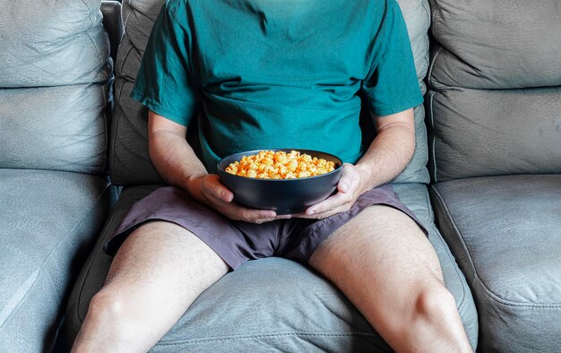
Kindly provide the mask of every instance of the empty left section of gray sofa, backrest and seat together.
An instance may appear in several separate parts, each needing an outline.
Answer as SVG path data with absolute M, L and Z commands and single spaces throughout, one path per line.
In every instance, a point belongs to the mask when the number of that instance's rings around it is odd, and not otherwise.
M 116 198 L 99 4 L 0 2 L 1 352 L 52 349 Z

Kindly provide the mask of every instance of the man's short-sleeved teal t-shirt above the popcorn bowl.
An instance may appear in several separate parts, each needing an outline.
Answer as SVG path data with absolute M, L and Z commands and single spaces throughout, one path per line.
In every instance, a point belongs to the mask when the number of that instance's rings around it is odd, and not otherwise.
M 209 172 L 273 148 L 355 163 L 361 104 L 387 116 L 423 100 L 395 0 L 168 0 L 132 96 L 178 124 L 197 118 Z

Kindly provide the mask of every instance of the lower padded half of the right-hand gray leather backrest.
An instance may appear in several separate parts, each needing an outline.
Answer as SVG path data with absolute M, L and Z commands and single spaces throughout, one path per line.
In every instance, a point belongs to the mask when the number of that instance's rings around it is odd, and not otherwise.
M 435 181 L 561 173 L 561 87 L 430 91 Z

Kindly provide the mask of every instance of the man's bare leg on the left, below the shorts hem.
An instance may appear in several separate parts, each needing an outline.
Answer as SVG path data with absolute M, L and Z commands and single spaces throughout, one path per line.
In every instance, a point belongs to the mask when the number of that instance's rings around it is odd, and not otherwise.
M 229 270 L 185 228 L 151 222 L 119 249 L 73 352 L 147 351 Z

